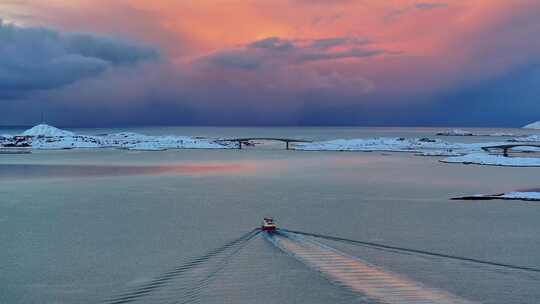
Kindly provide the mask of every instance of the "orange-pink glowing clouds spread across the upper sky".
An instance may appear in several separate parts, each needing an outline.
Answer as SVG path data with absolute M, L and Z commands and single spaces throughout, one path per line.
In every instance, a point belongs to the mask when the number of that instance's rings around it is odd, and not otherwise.
M 143 74 L 201 109 L 267 96 L 294 115 L 314 92 L 327 103 L 431 103 L 540 50 L 536 0 L 6 0 L 0 11 L 22 26 L 149 45 L 162 66 Z M 118 76 L 124 97 L 147 94 L 129 77 Z

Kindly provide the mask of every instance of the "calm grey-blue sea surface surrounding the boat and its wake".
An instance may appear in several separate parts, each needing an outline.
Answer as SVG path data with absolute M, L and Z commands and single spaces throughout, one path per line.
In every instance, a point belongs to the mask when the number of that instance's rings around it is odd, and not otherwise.
M 423 137 L 435 130 L 137 131 L 330 139 Z M 540 265 L 540 204 L 449 200 L 538 188 L 538 168 L 449 165 L 400 153 L 265 147 L 2 155 L 0 303 L 100 302 L 221 246 L 257 226 L 265 215 L 294 230 Z M 470 301 L 537 303 L 540 298 L 540 274 L 325 244 L 408 282 Z M 329 283 L 262 237 L 231 259 L 200 296 L 201 303 L 377 303 Z

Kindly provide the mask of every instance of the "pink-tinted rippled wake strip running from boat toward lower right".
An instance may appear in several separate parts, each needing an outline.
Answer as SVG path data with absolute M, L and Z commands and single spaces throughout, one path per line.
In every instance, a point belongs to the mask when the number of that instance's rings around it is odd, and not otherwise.
M 369 299 L 388 304 L 472 304 L 446 291 L 424 286 L 295 233 L 265 233 L 267 240 L 329 281 Z

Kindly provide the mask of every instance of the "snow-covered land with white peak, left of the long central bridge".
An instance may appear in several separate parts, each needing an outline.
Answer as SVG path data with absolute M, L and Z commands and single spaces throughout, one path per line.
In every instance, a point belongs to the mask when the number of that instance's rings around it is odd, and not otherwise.
M 49 125 L 37 125 L 21 135 L 0 136 L 0 147 L 32 149 L 120 148 L 159 151 L 166 149 L 227 149 L 234 146 L 189 136 L 148 136 L 131 132 L 102 136 L 75 134 Z

